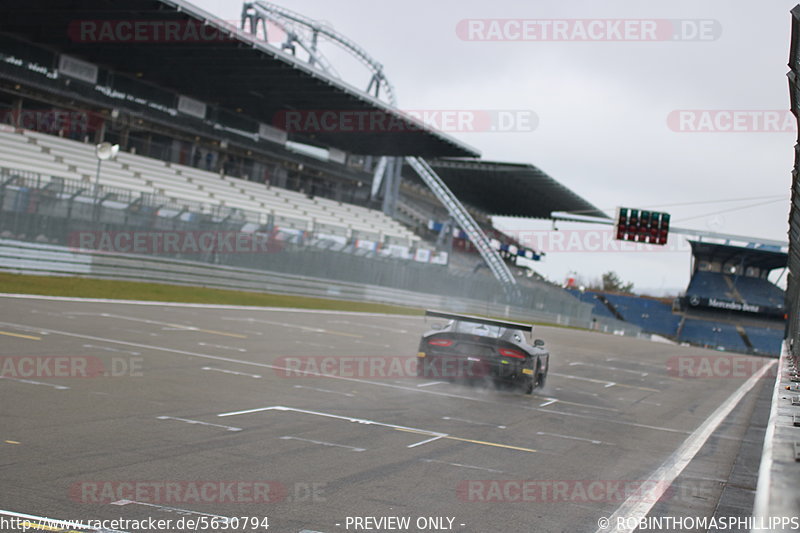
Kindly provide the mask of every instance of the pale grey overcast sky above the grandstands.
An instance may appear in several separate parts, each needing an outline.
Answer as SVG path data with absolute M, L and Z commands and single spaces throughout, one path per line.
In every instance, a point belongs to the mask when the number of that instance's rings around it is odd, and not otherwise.
M 241 3 L 231 0 L 195 3 L 227 20 L 241 14 Z M 667 118 L 687 109 L 787 110 L 794 1 L 278 3 L 330 24 L 363 46 L 385 66 L 403 109 L 535 113 L 538 124 L 532 131 L 450 132 L 479 149 L 484 159 L 534 164 L 611 215 L 619 205 L 663 208 L 672 213 L 674 226 L 787 239 L 794 126 L 790 131 L 688 133 L 671 129 Z M 713 24 L 706 26 L 711 28 L 706 40 L 481 41 L 457 33 L 465 19 Z M 354 84 L 363 83 L 349 65 L 341 70 Z M 731 199 L 738 201 L 719 203 Z M 717 203 L 682 205 L 701 201 Z M 762 205 L 752 207 L 757 203 Z M 496 223 L 516 230 L 552 229 L 544 221 Z M 549 233 L 522 234 L 551 250 L 536 268 L 554 281 L 570 271 L 592 279 L 615 270 L 640 290 L 677 292 L 688 283 L 690 254 L 681 237 L 671 238 L 671 251 L 604 253 L 586 250 L 598 242 L 592 236 L 597 226 L 559 223 L 558 228 L 568 239 L 582 239 L 570 250 L 584 251 L 559 252 L 558 238 Z

